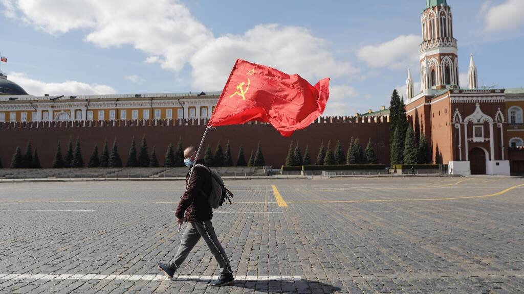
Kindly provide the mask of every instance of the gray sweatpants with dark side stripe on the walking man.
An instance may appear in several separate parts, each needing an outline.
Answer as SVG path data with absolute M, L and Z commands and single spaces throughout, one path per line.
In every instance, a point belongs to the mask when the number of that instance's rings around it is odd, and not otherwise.
M 216 262 L 219 263 L 222 268 L 222 274 L 233 274 L 230 261 L 227 258 L 224 248 L 216 238 L 211 221 L 190 222 L 185 225 L 177 255 L 171 259 L 170 264 L 178 268 L 184 262 L 185 258 L 188 257 L 189 252 L 191 252 L 196 245 L 196 242 L 200 240 L 200 237 L 204 238 L 205 243 L 208 244 L 211 253 L 215 256 Z

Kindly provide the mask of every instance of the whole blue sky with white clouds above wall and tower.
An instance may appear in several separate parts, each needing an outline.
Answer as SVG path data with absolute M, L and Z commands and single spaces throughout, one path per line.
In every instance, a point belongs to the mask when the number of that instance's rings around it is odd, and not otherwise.
M 243 58 L 331 77 L 326 114 L 353 115 L 405 95 L 407 67 L 419 82 L 424 0 L 0 3 L 2 70 L 34 95 L 221 91 Z M 524 1 L 448 4 L 461 75 L 473 53 L 479 84 L 524 86 Z

